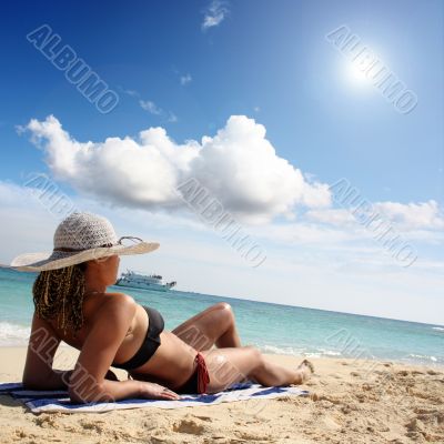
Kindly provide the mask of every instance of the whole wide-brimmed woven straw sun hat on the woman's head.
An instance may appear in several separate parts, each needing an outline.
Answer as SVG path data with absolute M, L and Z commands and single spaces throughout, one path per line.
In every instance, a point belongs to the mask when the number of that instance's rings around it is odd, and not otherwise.
M 113 254 L 150 253 L 158 248 L 158 242 L 145 242 L 139 238 L 118 239 L 105 218 L 74 212 L 57 228 L 52 252 L 20 254 L 10 266 L 19 271 L 57 270 Z

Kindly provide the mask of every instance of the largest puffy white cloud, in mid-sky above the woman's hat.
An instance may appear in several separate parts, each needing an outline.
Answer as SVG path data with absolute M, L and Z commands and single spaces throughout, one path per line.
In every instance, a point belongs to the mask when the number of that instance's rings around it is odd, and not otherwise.
M 244 115 L 232 115 L 214 137 L 184 144 L 160 127 L 141 131 L 139 140 L 78 142 L 52 115 L 31 120 L 27 129 L 58 180 L 114 205 L 181 209 L 176 186 L 191 178 L 244 222 L 291 219 L 297 204 L 322 208 L 331 202 L 327 184 L 307 182 L 276 154 L 265 128 Z

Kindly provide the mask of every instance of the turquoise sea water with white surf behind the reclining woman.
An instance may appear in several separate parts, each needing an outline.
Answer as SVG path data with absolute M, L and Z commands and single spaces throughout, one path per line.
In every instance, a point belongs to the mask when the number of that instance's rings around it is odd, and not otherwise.
M 26 345 L 33 313 L 33 273 L 0 269 L 0 346 Z M 115 287 L 122 291 L 123 287 Z M 266 353 L 387 360 L 444 366 L 444 326 L 181 291 L 124 289 L 159 310 L 165 327 L 224 301 L 244 345 Z

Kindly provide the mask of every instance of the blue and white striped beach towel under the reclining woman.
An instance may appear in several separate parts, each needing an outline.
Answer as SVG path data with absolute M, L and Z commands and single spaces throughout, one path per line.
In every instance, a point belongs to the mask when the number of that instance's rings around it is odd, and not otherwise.
M 71 403 L 67 391 L 32 391 L 24 390 L 21 383 L 0 383 L 0 395 L 7 394 L 22 402 L 32 413 L 100 413 L 139 407 L 181 408 L 193 405 L 215 405 L 234 401 L 250 401 L 254 404 L 253 400 L 301 396 L 307 395 L 309 392 L 296 387 L 264 387 L 259 384 L 239 383 L 233 384 L 224 392 L 203 395 L 181 395 L 181 398 L 176 401 L 122 400 L 113 403 L 74 404 Z M 254 408 L 253 405 L 251 407 Z

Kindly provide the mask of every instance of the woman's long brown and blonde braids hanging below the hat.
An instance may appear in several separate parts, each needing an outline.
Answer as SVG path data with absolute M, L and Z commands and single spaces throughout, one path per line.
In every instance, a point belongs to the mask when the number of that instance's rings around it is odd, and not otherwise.
M 43 320 L 58 316 L 58 326 L 73 334 L 83 325 L 84 272 L 87 263 L 65 266 L 58 270 L 42 271 L 37 276 L 33 287 L 36 313 Z

